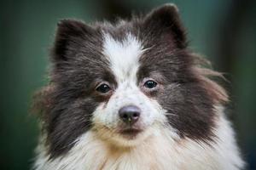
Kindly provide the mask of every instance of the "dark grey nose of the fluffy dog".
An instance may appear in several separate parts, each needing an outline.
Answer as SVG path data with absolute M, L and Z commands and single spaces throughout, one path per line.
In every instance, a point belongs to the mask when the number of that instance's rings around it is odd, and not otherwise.
M 140 108 L 135 105 L 127 105 L 119 110 L 120 119 L 129 124 L 137 122 L 141 114 Z

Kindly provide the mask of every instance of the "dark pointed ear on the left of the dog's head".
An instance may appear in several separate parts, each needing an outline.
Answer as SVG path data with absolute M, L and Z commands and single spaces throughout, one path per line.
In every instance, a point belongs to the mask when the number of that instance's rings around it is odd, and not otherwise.
M 78 48 L 82 41 L 89 38 L 93 28 L 78 20 L 61 20 L 58 23 L 52 57 L 55 61 L 67 60 L 68 50 Z

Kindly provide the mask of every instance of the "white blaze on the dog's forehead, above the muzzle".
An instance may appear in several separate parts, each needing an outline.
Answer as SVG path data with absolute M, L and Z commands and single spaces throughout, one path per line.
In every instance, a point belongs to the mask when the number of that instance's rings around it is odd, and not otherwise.
M 137 80 L 138 61 L 143 54 L 143 47 L 131 33 L 128 33 L 122 42 L 114 40 L 109 34 L 105 34 L 103 54 L 108 57 L 110 67 L 118 82 Z

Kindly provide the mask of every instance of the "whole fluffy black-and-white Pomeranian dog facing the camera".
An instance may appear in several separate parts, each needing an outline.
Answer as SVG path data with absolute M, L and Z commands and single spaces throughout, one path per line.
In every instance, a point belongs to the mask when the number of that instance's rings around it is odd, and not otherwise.
M 176 6 L 92 25 L 61 20 L 36 94 L 36 170 L 237 170 L 217 71 L 193 54 Z

